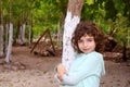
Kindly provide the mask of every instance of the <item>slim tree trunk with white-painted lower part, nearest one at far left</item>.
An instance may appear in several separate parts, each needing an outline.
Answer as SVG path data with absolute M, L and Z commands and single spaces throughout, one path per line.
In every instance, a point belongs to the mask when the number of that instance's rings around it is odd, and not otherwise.
M 11 52 L 12 52 L 12 44 L 13 44 L 13 23 L 12 23 L 12 0 L 10 1 L 10 23 L 9 23 L 9 44 L 8 44 L 8 51 L 5 57 L 5 62 L 11 63 Z

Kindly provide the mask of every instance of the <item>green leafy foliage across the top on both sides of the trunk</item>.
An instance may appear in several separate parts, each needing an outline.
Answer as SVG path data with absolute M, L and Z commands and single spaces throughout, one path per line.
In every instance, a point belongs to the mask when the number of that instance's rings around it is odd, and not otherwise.
M 9 20 L 10 0 L 3 0 L 4 23 Z M 14 30 L 17 24 L 26 21 L 32 25 L 35 37 L 44 29 L 57 32 L 64 23 L 68 0 L 12 0 Z M 81 20 L 95 22 L 104 33 L 118 29 L 114 37 L 121 44 L 130 29 L 130 0 L 84 0 Z M 32 23 L 31 23 L 32 21 Z M 127 39 L 128 40 L 128 39 Z

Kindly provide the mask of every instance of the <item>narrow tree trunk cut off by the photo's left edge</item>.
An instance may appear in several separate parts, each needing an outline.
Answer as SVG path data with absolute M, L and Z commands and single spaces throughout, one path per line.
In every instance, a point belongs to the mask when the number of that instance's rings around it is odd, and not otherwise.
M 0 0 L 0 57 L 3 57 L 3 15 L 2 15 L 2 0 Z

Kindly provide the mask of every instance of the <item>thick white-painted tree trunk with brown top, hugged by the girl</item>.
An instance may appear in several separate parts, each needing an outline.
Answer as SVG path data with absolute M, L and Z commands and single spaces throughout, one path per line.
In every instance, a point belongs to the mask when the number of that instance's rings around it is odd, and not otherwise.
M 82 5 L 83 5 L 83 0 L 68 1 L 67 14 L 64 24 L 63 57 L 62 57 L 62 63 L 66 67 L 66 70 L 69 69 L 76 55 L 76 52 L 72 47 L 72 35 L 77 24 L 80 22 Z

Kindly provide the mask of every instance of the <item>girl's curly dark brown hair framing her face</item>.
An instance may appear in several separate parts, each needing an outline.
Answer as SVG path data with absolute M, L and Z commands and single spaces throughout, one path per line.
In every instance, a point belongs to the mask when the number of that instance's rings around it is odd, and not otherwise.
M 78 48 L 78 40 L 84 36 L 86 34 L 89 36 L 93 36 L 94 37 L 94 41 L 95 44 L 98 42 L 98 36 L 99 36 L 99 28 L 95 26 L 94 23 L 92 22 L 87 22 L 87 21 L 82 21 L 80 22 L 74 34 L 73 34 L 73 38 L 72 38 L 72 45 L 75 49 L 75 51 L 77 51 L 78 53 L 81 53 L 81 51 Z

